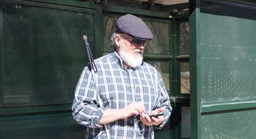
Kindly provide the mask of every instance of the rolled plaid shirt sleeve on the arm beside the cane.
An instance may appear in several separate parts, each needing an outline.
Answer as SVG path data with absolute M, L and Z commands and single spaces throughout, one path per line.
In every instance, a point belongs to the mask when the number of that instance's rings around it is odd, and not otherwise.
M 83 69 L 77 88 L 74 92 L 72 115 L 74 120 L 83 126 L 99 128 L 98 124 L 105 108 L 99 108 L 95 81 L 88 67 Z

